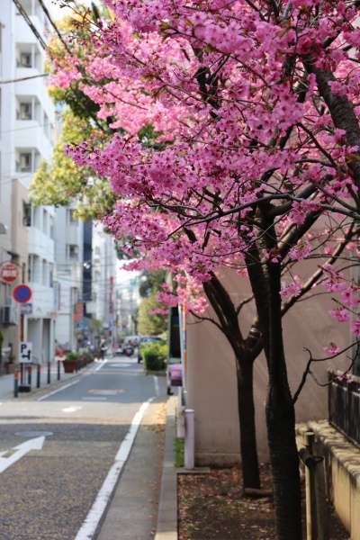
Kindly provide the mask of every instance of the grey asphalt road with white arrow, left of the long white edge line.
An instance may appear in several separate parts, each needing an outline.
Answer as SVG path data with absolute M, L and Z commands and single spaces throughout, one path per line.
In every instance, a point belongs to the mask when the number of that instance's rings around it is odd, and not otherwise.
M 164 377 L 118 357 L 53 392 L 3 401 L 1 540 L 74 540 L 141 404 L 160 395 Z

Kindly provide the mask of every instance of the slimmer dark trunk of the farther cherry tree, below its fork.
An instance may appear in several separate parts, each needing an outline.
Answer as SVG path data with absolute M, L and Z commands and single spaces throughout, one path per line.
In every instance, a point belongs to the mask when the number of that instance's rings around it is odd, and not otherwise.
M 260 489 L 255 426 L 253 363 L 249 362 L 244 365 L 244 362 L 242 362 L 240 367 L 237 360 L 237 378 L 243 490 L 246 488 Z

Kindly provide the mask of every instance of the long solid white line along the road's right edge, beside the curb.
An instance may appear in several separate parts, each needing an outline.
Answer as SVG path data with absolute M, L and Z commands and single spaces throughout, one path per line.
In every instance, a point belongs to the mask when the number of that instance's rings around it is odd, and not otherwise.
M 130 429 L 121 443 L 119 451 L 112 464 L 112 468 L 107 474 L 103 485 L 98 492 L 96 499 L 94 500 L 94 504 L 90 509 L 90 512 L 87 514 L 83 526 L 78 531 L 75 540 L 91 540 L 94 537 L 96 528 L 99 525 L 100 520 L 103 518 L 103 513 L 112 497 L 112 491 L 116 486 L 122 467 L 129 457 L 131 446 L 133 445 L 136 434 L 138 433 L 143 414 L 153 400 L 154 398 L 151 398 L 143 403 L 132 419 Z

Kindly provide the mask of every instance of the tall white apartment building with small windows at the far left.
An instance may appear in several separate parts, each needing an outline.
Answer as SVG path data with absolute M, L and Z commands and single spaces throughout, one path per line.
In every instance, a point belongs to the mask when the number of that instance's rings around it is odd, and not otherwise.
M 0 328 L 7 356 L 28 341 L 34 361 L 44 362 L 54 343 L 55 209 L 33 207 L 28 187 L 56 134 L 42 68 L 49 22 L 38 0 L 0 4 L 0 263 L 17 270 L 13 281 L 1 280 Z M 50 9 L 49 0 L 43 4 Z M 19 284 L 31 293 L 22 302 L 14 299 Z

